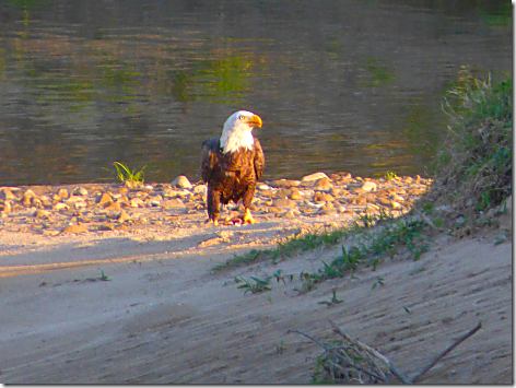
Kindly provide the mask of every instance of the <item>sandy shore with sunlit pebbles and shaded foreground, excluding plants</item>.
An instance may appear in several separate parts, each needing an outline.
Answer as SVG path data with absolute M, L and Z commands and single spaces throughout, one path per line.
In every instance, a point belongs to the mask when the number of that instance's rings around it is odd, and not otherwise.
M 512 242 L 494 244 L 500 230 L 474 239 L 435 235 L 418 261 L 361 268 L 302 295 L 293 291 L 297 274 L 331 261 L 340 245 L 212 272 L 233 254 L 347 224 L 365 207 L 406 212 L 429 184 L 321 180 L 263 185 L 256 224 L 219 227 L 204 224 L 200 185 L 0 192 L 0 381 L 307 384 L 322 351 L 288 330 L 329 340 L 331 319 L 409 376 L 481 321 L 420 383 L 511 384 Z M 62 188 L 68 196 L 55 197 Z M 99 204 L 106 192 L 112 200 Z M 81 227 L 67 232 L 71 225 Z M 512 220 L 501 225 L 512 231 Z M 280 269 L 294 281 L 258 294 L 236 289 L 235 275 Z M 379 278 L 383 285 L 373 287 Z M 342 303 L 318 303 L 333 290 Z

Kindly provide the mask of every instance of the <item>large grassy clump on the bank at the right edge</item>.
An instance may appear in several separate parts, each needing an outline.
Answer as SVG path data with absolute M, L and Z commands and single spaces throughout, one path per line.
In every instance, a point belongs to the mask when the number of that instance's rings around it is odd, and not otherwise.
M 512 80 L 492 84 L 470 78 L 447 93 L 443 109 L 449 133 L 436 158 L 433 187 L 422 198 L 426 208 L 450 207 L 455 214 L 447 227 L 479 225 L 512 195 Z

